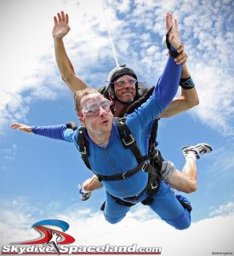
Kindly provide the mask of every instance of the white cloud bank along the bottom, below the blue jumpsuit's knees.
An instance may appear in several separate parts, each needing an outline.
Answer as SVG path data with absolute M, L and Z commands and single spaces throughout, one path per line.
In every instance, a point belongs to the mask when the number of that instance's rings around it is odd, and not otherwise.
M 137 244 L 138 247 L 162 247 L 165 256 L 211 255 L 213 252 L 233 253 L 234 250 L 233 212 L 228 216 L 192 223 L 187 230 L 174 230 L 162 220 L 153 218 L 153 214 L 143 206 L 129 212 L 121 223 L 114 225 L 106 223 L 101 212 L 88 209 L 72 208 L 72 211 L 68 209 L 66 214 L 52 218 L 70 224 L 67 233 L 76 238 L 74 245 L 77 246 Z M 39 220 L 33 219 L 22 206 L 21 211 L 17 211 L 15 205 L 14 210 L 5 210 L 1 214 L 1 245 L 36 238 L 37 232 L 31 229 L 31 225 Z

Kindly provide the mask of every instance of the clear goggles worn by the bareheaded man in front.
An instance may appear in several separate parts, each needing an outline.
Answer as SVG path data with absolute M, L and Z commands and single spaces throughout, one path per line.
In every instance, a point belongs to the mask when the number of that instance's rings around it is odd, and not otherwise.
M 83 102 L 83 107 L 81 112 L 78 114 L 83 116 L 97 116 L 100 114 L 100 108 L 109 112 L 113 102 L 106 100 L 104 97 L 90 98 L 86 102 Z

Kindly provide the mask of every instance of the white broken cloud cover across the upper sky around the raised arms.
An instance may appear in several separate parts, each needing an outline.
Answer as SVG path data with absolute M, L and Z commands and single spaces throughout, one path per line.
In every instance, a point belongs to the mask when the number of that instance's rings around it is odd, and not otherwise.
M 60 96 L 58 89 L 65 88 L 60 86 L 55 67 L 51 37 L 54 12 L 65 9 L 70 15 L 71 32 L 65 38 L 66 49 L 83 79 L 92 86 L 100 84 L 106 80 L 108 67 L 115 65 L 102 1 L 33 1 L 37 3 L 33 5 L 31 1 L 23 0 L 17 2 L 18 9 L 27 6 L 31 10 L 23 13 L 16 11 L 16 6 L 13 8 L 16 2 L 5 2 L 4 14 L 1 13 L 1 23 L 6 24 L 1 41 L 1 48 L 6 50 L 0 60 L 4 74 L 0 84 L 1 125 L 13 119 L 26 119 L 31 101 L 54 99 Z M 197 118 L 224 136 L 233 136 L 233 3 L 134 1 L 131 2 L 133 10 L 129 9 L 130 1 L 107 3 L 106 20 L 116 45 L 118 61 L 133 67 L 140 80 L 148 84 L 153 84 L 163 70 L 165 56 L 161 38 L 165 33 L 164 19 L 166 12 L 174 11 L 189 55 L 191 76 L 199 92 Z M 11 11 L 6 12 L 8 9 Z M 37 9 L 43 9 L 43 13 L 38 15 Z M 20 23 L 15 20 L 20 20 Z M 26 90 L 30 91 L 29 102 L 23 97 Z

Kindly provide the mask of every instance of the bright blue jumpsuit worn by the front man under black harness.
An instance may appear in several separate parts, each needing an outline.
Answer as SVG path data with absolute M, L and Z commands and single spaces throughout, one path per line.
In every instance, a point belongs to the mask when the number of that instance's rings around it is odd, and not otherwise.
M 169 56 L 163 75 L 158 80 L 152 96 L 127 116 L 126 125 L 128 125 L 129 130 L 133 134 L 142 155 L 147 154 L 148 145 L 146 143 L 146 137 L 151 130 L 152 120 L 156 119 L 172 101 L 178 89 L 180 73 L 180 65 L 176 65 L 174 60 Z M 75 143 L 78 148 L 76 140 L 78 131 L 67 129 L 65 125 L 34 126 L 32 127 L 32 131 L 38 135 Z M 112 125 L 111 136 L 106 148 L 101 148 L 95 144 L 88 137 L 88 133 L 85 134 L 85 137 L 88 140 L 88 160 L 95 174 L 110 176 L 128 172 L 138 166 L 132 151 L 128 148 L 123 148 L 115 122 Z M 144 171 L 137 172 L 134 176 L 124 180 L 102 181 L 106 189 L 104 215 L 109 223 L 116 224 L 121 221 L 130 209 L 130 207 L 117 204 L 111 195 L 126 201 L 124 200 L 126 197 L 139 195 L 146 188 L 147 181 L 148 173 Z M 138 203 L 146 199 L 146 197 L 146 192 L 144 192 L 140 195 L 138 201 L 133 202 Z M 160 188 L 157 194 L 154 195 L 154 201 L 149 207 L 165 222 L 174 226 L 176 229 L 183 230 L 190 226 L 191 215 L 190 212 L 181 206 L 177 197 L 190 204 L 183 196 L 175 196 L 168 184 L 161 181 Z

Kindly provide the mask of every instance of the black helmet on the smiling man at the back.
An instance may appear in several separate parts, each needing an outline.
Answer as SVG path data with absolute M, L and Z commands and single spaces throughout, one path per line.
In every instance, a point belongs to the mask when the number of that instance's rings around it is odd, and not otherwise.
M 108 84 L 106 85 L 106 90 L 111 94 L 111 98 L 115 99 L 115 90 L 114 90 L 114 81 L 125 74 L 131 75 L 134 79 L 137 79 L 136 74 L 134 73 L 133 69 L 126 67 L 126 64 L 121 64 L 118 67 L 115 67 L 111 70 L 108 76 Z M 136 92 L 138 92 L 138 82 L 135 84 Z

